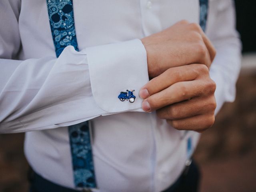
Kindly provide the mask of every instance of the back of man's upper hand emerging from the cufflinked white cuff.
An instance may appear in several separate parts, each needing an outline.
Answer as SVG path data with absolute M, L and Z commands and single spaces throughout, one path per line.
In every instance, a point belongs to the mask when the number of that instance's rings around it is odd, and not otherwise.
M 171 67 L 193 63 L 205 64 L 209 68 L 216 54 L 200 26 L 185 20 L 141 41 L 147 52 L 150 78 Z

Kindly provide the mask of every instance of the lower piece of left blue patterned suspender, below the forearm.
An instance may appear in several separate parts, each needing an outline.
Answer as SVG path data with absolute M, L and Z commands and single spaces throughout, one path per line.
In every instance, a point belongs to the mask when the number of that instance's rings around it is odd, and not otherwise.
M 75 185 L 96 188 L 88 121 L 69 126 L 68 131 Z

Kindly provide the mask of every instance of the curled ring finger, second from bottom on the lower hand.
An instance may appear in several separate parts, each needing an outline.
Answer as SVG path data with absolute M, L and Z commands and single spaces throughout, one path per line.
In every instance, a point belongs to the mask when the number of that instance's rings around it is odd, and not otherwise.
M 215 108 L 216 101 L 214 96 L 197 97 L 160 108 L 156 110 L 156 114 L 160 119 L 178 120 L 199 114 L 212 113 Z

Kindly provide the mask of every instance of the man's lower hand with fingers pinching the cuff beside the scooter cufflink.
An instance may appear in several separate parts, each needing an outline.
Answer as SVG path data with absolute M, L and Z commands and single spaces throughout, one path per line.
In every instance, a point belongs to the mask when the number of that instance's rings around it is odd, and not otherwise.
M 169 68 L 140 90 L 142 109 L 178 130 L 202 132 L 214 123 L 215 82 L 204 64 Z

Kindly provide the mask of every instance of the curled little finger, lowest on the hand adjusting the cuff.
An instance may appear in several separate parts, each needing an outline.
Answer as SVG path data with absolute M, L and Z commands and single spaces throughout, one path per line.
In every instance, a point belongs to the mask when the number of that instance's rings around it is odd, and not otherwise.
M 166 121 L 177 130 L 195 130 L 197 132 L 203 132 L 214 124 L 215 117 L 214 114 L 203 114 L 179 120 Z

